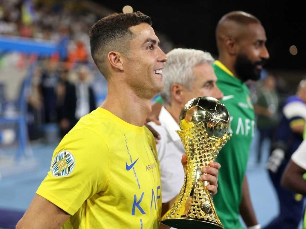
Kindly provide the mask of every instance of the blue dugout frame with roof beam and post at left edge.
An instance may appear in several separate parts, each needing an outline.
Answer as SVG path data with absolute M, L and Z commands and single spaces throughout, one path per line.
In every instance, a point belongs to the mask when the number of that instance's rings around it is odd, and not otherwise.
M 37 41 L 29 38 L 0 36 L 0 54 L 8 52 L 21 52 L 39 56 L 50 56 L 60 53 L 60 43 L 52 41 Z M 37 168 L 38 163 L 32 155 L 26 155 L 27 145 L 27 99 L 31 86 L 32 76 L 37 66 L 37 60 L 31 64 L 28 73 L 21 87 L 21 93 L 16 101 L 18 114 L 11 117 L 0 116 L 0 124 L 16 123 L 18 125 L 18 148 L 15 154 L 14 163 L 3 168 L 0 167 L 0 176 L 9 176 L 16 173 L 23 173 Z

